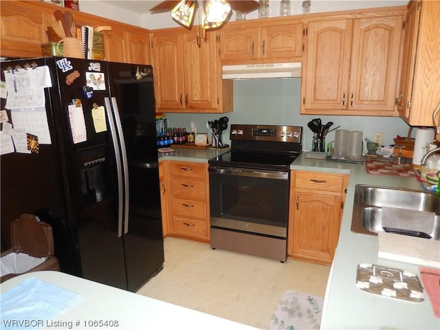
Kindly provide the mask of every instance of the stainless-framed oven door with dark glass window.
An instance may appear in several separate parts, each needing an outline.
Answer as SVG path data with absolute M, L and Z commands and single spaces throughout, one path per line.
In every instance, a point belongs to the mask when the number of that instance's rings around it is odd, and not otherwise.
M 211 228 L 287 237 L 289 172 L 210 166 Z

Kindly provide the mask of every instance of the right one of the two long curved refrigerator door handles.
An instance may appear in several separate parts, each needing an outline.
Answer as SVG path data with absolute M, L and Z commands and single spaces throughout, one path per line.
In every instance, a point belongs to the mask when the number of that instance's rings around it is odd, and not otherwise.
M 124 131 L 122 131 L 122 123 L 119 115 L 118 102 L 116 98 L 111 98 L 111 105 L 113 107 L 113 113 L 116 123 L 116 129 L 118 131 L 119 144 L 122 153 L 122 169 L 124 175 L 124 234 L 129 232 L 129 203 L 130 203 L 130 187 L 129 187 L 129 162 L 126 157 L 126 148 L 124 140 Z

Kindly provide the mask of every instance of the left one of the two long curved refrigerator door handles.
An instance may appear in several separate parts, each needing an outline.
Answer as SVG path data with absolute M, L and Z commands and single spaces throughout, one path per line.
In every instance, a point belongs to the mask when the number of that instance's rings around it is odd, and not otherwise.
M 113 122 L 113 114 L 111 111 L 111 104 L 109 98 L 104 98 L 105 111 L 107 112 L 107 118 L 109 118 L 109 126 L 111 133 L 111 140 L 113 142 L 113 148 L 115 151 L 116 159 L 116 172 L 118 175 L 118 237 L 122 236 L 122 214 L 124 211 L 124 191 L 122 188 L 122 162 L 120 155 L 120 147 L 118 142 L 118 134 L 116 133 L 115 123 Z

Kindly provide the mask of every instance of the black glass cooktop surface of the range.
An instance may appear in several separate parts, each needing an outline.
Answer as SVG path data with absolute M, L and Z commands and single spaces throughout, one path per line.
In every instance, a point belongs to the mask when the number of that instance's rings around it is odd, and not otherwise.
M 208 161 L 210 165 L 259 168 L 267 170 L 289 170 L 290 164 L 298 157 L 295 155 L 250 153 L 230 151 Z

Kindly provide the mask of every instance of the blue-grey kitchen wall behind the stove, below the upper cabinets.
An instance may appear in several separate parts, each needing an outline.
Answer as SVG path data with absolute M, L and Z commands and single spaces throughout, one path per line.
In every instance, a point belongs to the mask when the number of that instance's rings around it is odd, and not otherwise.
M 395 117 L 358 117 L 341 115 L 300 115 L 300 79 L 243 79 L 234 80 L 234 111 L 225 114 L 166 113 L 168 126 L 186 127 L 196 124 L 198 133 L 208 133 L 206 122 L 225 115 L 230 124 L 274 124 L 303 126 L 303 149 L 311 150 L 311 133 L 307 122 L 321 118 L 322 122 L 334 122 L 331 128 L 362 131 L 364 137 L 373 140 L 375 132 L 382 132 L 383 143 L 393 144 L 397 134 L 406 136 L 409 126 Z M 327 135 L 327 142 L 334 140 L 334 131 Z M 230 129 L 223 133 L 223 142 L 230 143 Z M 366 148 L 364 150 L 366 152 Z

